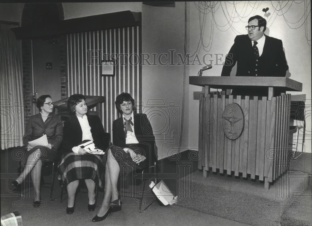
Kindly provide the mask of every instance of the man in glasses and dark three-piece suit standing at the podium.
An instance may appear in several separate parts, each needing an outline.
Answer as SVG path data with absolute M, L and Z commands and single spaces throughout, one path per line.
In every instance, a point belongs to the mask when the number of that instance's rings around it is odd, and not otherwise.
M 286 63 L 283 43 L 280 39 L 264 34 L 266 19 L 253 16 L 246 26 L 248 34 L 237 35 L 225 58 L 221 76 L 230 76 L 237 62 L 236 76 L 285 77 Z M 267 88 L 236 88 L 233 95 L 267 96 Z

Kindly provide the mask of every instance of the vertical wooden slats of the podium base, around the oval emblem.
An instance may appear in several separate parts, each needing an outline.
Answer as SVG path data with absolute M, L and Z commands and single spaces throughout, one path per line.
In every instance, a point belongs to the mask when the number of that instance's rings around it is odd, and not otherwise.
M 268 100 L 232 95 L 205 97 L 202 93 L 199 103 L 199 169 L 226 170 L 229 175 L 234 171 L 235 176 L 241 173 L 246 178 L 248 174 L 261 181 L 266 177 L 268 182 L 285 173 L 290 94 Z M 228 139 L 222 128 L 222 113 L 229 103 L 239 104 L 244 113 L 244 130 L 236 140 Z

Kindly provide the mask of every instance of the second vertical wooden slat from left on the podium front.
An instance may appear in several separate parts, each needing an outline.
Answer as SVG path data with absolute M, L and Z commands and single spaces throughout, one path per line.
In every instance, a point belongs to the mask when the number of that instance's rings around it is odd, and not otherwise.
M 210 138 L 210 123 L 211 123 L 211 115 L 210 115 L 210 112 L 211 112 L 211 106 L 210 106 L 210 95 L 207 95 L 205 100 L 204 100 L 204 104 L 205 104 L 205 108 L 206 109 L 206 118 L 205 118 L 205 143 L 204 143 L 204 146 L 205 146 L 205 149 L 206 149 L 206 152 L 205 152 L 205 170 L 209 170 L 209 153 L 210 153 L 210 141 L 209 141 L 209 138 Z

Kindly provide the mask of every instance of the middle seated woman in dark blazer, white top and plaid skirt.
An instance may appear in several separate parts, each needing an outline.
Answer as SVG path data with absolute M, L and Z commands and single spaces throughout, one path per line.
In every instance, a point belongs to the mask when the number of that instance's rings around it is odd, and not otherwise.
M 83 141 L 93 141 L 95 147 L 105 151 L 105 131 L 98 116 L 87 114 L 85 96 L 81 94 L 71 95 L 67 102 L 70 118 L 65 121 L 63 129 L 62 147 L 64 153 L 59 173 L 63 183 L 67 186 L 68 203 L 66 213 L 74 213 L 75 193 L 79 180 L 84 179 L 88 188 L 88 210 L 95 209 L 95 186 L 102 187 L 104 181 L 105 164 L 103 155 L 89 154 L 85 148 L 80 148 Z M 84 142 L 83 142 L 84 143 Z

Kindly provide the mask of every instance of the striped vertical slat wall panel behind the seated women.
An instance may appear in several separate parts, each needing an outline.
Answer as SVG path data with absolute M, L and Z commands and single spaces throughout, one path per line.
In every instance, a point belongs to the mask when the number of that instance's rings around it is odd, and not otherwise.
M 101 104 L 102 120 L 106 132 L 111 133 L 112 123 L 118 118 L 115 98 L 122 92 L 130 93 L 136 103 L 142 101 L 141 27 L 114 28 L 100 31 L 67 34 L 66 61 L 68 96 L 81 93 L 91 96 L 105 96 Z M 103 54 L 125 54 L 126 60 L 115 66 L 115 76 L 101 76 L 102 66 L 92 56 Z M 132 62 L 129 63 L 129 56 Z M 115 57 L 116 58 L 116 57 Z M 118 58 L 121 59 L 121 58 Z M 139 62 L 138 60 L 139 59 Z M 89 64 L 89 65 L 88 65 Z M 92 108 L 93 111 L 99 109 Z

